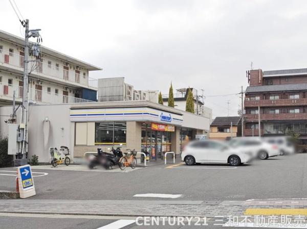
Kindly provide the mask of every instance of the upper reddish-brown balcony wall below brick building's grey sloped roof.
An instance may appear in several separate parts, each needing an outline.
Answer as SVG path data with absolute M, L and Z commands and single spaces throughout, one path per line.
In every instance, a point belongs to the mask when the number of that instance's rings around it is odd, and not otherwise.
M 245 100 L 245 107 L 282 107 L 307 105 L 307 98 Z

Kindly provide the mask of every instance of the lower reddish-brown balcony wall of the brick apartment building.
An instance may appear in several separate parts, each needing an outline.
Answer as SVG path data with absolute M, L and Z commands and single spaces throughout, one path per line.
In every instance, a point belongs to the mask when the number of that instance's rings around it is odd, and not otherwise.
M 258 121 L 257 114 L 244 115 L 246 121 Z M 307 119 L 307 113 L 260 114 L 260 120 L 300 120 Z

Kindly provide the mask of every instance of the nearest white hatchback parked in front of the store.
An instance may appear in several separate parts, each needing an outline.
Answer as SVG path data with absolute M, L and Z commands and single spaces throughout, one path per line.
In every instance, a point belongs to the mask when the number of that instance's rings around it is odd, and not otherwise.
M 187 165 L 195 163 L 228 163 L 238 166 L 252 159 L 249 152 L 238 152 L 221 141 L 200 140 L 188 143 L 182 154 L 181 160 Z

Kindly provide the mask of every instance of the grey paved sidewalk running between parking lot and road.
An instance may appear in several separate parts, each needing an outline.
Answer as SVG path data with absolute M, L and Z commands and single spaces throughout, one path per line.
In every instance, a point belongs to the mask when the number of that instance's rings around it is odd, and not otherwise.
M 243 216 L 287 214 L 307 215 L 306 200 L 262 200 L 223 201 L 212 204 L 210 201 L 190 200 L 42 200 L 10 199 L 0 200 L 0 212 L 5 213 L 45 213 L 105 216 Z M 283 205 L 276 205 L 276 201 Z M 294 205 L 295 204 L 295 205 Z M 277 213 L 274 211 L 276 210 Z M 256 214 L 250 214 L 255 212 Z M 279 214 L 280 213 L 280 214 Z

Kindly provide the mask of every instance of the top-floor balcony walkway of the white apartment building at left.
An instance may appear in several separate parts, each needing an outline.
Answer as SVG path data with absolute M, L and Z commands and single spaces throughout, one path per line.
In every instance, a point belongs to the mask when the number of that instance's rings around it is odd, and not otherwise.
M 15 53 L 9 53 L 6 50 L 0 49 L 0 66 L 11 66 L 12 69 L 18 71 L 24 71 L 24 56 L 20 56 Z M 30 60 L 34 60 L 31 59 Z M 78 87 L 92 87 L 97 89 L 98 80 L 92 78 L 83 78 L 80 73 L 76 73 L 75 70 L 70 70 L 69 67 L 59 67 L 58 65 L 52 65 L 45 62 L 30 62 L 29 69 L 31 70 L 31 75 L 36 75 L 41 80 L 53 80 L 55 82 L 60 81 L 65 84 L 71 84 L 71 86 Z

